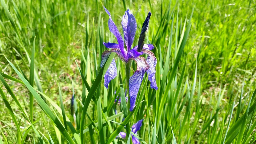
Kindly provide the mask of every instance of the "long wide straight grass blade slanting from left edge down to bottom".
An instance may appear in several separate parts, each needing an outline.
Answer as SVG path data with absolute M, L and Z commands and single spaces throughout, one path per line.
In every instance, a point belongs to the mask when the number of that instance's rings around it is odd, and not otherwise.
M 5 55 L 4 55 L 5 56 Z M 56 127 L 61 131 L 67 141 L 71 144 L 75 142 L 66 131 L 65 127 L 59 121 L 59 119 L 54 115 L 54 113 L 50 110 L 50 107 L 45 103 L 45 101 L 40 97 L 40 95 L 35 91 L 35 89 L 29 84 L 29 82 L 23 77 L 23 75 L 18 71 L 18 69 L 7 59 L 6 60 L 10 63 L 11 67 L 13 67 L 14 71 L 18 74 L 21 80 L 25 83 L 27 89 L 33 94 L 35 99 L 37 100 L 38 104 L 40 105 L 41 109 L 45 112 L 45 114 L 51 119 L 51 121 L 56 125 Z

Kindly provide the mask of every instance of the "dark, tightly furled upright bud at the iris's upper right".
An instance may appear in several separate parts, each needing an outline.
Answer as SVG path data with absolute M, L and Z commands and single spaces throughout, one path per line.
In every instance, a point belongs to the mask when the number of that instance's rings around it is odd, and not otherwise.
M 151 13 L 147 15 L 147 18 L 145 19 L 142 28 L 141 28 L 141 35 L 139 36 L 138 41 L 138 52 L 142 51 L 142 48 L 144 46 L 144 41 L 146 38 L 147 30 L 149 29 L 149 19 L 150 19 Z

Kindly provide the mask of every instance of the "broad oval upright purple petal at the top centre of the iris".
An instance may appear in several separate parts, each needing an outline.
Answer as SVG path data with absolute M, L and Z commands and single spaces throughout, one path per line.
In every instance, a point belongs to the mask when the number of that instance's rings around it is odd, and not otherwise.
M 135 20 L 135 17 L 131 13 L 131 11 L 128 9 L 125 11 L 125 14 L 122 18 L 122 26 L 123 26 L 123 34 L 125 38 L 125 44 L 127 47 L 127 51 L 131 49 L 131 45 L 133 44 L 134 36 L 137 29 L 137 23 Z

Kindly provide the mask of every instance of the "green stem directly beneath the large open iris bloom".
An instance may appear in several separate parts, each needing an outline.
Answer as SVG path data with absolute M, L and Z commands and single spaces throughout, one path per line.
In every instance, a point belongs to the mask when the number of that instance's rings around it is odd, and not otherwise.
M 128 96 L 128 102 L 127 102 L 127 109 L 128 113 L 130 113 L 130 94 L 129 94 L 129 79 L 130 79 L 130 68 L 131 68 L 131 61 L 128 61 L 125 65 L 126 68 L 126 88 L 127 88 L 127 96 Z M 126 138 L 125 141 L 127 142 L 128 137 L 130 135 L 130 121 L 126 124 Z M 132 144 L 132 139 L 130 139 L 130 144 Z

